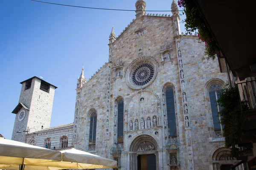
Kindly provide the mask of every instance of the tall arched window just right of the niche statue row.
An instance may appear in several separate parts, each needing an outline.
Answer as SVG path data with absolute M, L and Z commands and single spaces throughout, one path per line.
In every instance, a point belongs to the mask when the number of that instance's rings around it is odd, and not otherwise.
M 166 113 L 167 113 L 167 124 L 169 137 L 177 136 L 176 119 L 175 119 L 175 104 L 174 104 L 174 93 L 171 86 L 165 88 L 166 94 Z

